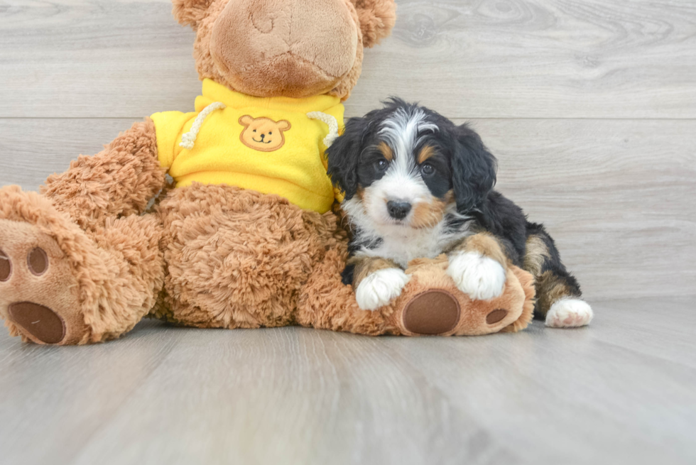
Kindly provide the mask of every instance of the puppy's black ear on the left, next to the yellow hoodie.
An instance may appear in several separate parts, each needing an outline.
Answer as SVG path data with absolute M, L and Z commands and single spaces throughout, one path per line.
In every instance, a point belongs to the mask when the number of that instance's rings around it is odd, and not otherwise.
M 350 200 L 358 190 L 358 163 L 367 127 L 367 120 L 364 118 L 349 119 L 343 135 L 326 151 L 327 173 L 333 185 L 344 192 L 346 200 Z

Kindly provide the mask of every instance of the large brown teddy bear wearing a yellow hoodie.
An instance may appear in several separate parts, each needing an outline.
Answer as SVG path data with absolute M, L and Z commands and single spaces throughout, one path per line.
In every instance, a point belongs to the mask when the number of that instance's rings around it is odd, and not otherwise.
M 197 32 L 195 111 L 134 124 L 50 176 L 41 194 L 0 189 L 0 316 L 10 334 L 89 344 L 145 316 L 364 334 L 526 327 L 533 283 L 518 268 L 504 295 L 472 302 L 447 278 L 446 259 L 416 261 L 401 297 L 376 312 L 359 310 L 341 283 L 346 233 L 323 154 L 363 48 L 393 27 L 393 0 L 173 5 Z

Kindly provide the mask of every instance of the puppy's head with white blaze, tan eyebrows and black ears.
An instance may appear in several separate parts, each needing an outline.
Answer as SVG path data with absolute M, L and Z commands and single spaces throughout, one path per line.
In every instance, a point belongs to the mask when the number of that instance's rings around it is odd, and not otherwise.
M 467 214 L 496 180 L 496 160 L 477 133 L 399 99 L 350 119 L 327 154 L 347 214 L 376 229 L 429 228 L 447 212 Z

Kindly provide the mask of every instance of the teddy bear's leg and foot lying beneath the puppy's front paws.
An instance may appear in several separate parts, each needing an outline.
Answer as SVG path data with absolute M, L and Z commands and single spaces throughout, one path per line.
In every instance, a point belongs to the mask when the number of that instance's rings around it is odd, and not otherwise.
M 352 286 L 341 282 L 345 251 L 330 250 L 310 275 L 298 305 L 303 326 L 359 334 L 464 336 L 525 329 L 534 309 L 534 278 L 515 266 L 506 270 L 501 295 L 472 300 L 447 274 L 447 257 L 411 261 L 408 283 L 392 302 L 361 310 Z

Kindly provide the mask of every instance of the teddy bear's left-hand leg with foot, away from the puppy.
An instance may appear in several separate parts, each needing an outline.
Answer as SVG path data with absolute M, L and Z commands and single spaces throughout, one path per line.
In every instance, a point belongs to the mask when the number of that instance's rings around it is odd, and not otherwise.
M 89 344 L 129 331 L 163 283 L 153 215 L 85 232 L 36 192 L 0 189 L 0 317 L 37 344 Z

